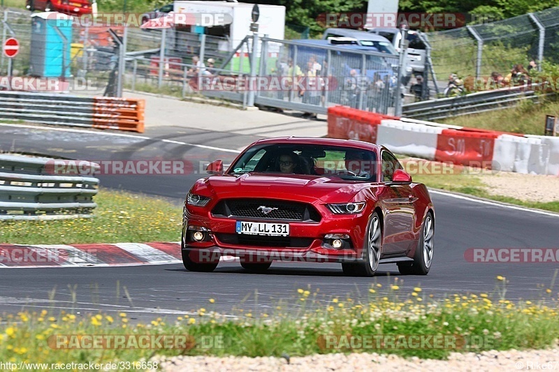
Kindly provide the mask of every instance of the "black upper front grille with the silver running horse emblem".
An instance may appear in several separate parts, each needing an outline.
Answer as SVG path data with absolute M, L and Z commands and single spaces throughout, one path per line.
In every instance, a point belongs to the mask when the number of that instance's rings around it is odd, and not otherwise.
M 263 214 L 259 207 L 277 208 Z M 321 216 L 310 204 L 270 199 L 225 199 L 212 209 L 216 217 L 254 218 L 257 220 L 282 220 L 320 222 Z

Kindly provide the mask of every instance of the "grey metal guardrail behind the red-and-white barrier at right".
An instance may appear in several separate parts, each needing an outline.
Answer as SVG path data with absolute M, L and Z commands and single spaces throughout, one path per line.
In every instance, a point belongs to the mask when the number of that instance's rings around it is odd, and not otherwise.
M 553 93 L 544 94 L 544 96 Z M 520 101 L 537 101 L 540 95 L 526 87 L 512 87 L 482 91 L 465 96 L 439 98 L 430 101 L 409 103 L 403 106 L 402 116 L 412 119 L 436 120 L 446 117 L 477 114 L 493 110 L 502 110 L 516 105 Z

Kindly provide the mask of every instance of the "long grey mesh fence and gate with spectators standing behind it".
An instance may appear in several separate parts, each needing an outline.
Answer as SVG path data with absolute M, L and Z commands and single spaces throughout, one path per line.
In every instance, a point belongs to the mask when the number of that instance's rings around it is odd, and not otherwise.
M 3 20 L 3 40 L 15 37 L 22 45 L 13 59 L 13 76 L 36 74 L 31 68 L 34 55 L 49 50 L 52 40 L 36 42 L 28 12 L 6 10 Z M 331 105 L 395 112 L 400 93 L 397 55 L 317 40 L 260 38 L 253 56 L 252 40 L 247 36 L 239 43 L 189 27 L 149 30 L 73 22 L 61 42 L 66 50 L 70 44 L 68 57 L 45 60 L 58 65 L 59 75 L 51 77 L 65 80 L 69 92 L 82 96 L 120 96 L 122 89 L 131 89 L 182 97 L 203 94 L 315 114 Z M 31 45 L 36 45 L 33 52 Z M 64 47 L 57 45 L 59 54 Z M 6 75 L 7 65 L 2 57 L 0 73 Z

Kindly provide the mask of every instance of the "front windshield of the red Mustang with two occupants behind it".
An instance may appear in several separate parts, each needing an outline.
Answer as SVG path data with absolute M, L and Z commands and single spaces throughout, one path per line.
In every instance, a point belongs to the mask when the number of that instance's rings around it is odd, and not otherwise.
M 248 149 L 228 174 L 278 173 L 377 180 L 375 151 L 321 144 L 261 144 Z

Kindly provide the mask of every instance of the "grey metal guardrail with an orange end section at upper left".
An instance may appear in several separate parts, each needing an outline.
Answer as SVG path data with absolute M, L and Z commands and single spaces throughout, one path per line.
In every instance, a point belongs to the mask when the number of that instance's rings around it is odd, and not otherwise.
M 0 91 L 0 119 L 144 131 L 144 100 Z

